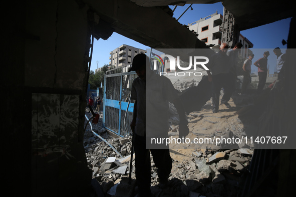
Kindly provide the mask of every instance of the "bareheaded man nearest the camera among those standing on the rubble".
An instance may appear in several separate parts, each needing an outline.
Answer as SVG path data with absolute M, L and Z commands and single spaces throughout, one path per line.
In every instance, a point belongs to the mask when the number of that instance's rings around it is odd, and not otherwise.
M 210 59 L 207 70 L 208 79 L 212 81 L 213 85 L 213 113 L 218 112 L 220 91 L 224 88 L 224 95 L 222 96 L 221 103 L 230 108 L 228 103 L 230 96 L 233 92 L 233 78 L 230 74 L 229 56 L 227 56 L 228 44 L 223 42 L 220 45 L 220 50 L 213 54 Z

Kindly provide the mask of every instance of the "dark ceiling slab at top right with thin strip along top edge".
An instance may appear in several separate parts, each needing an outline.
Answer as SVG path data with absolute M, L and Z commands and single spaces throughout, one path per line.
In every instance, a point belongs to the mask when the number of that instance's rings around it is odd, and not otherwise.
M 294 5 L 289 0 L 131 0 L 139 6 L 184 5 L 222 2 L 230 11 L 239 30 L 245 30 L 292 17 Z

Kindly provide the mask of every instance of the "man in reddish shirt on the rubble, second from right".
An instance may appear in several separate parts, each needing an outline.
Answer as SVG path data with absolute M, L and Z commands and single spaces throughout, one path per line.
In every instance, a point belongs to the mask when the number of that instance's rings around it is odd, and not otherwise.
M 265 85 L 266 78 L 267 78 L 267 57 L 269 56 L 269 51 L 266 50 L 263 53 L 263 57 L 259 58 L 257 61 L 255 61 L 254 65 L 258 67 L 258 87 L 257 92 L 260 93 Z

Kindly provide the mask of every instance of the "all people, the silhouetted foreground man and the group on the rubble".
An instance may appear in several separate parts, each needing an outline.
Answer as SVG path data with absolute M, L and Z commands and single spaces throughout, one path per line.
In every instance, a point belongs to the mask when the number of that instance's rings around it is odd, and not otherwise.
M 228 50 L 228 47 L 227 43 L 222 43 L 218 52 L 210 57 L 207 64 L 210 68 L 210 70 L 207 70 L 208 80 L 212 81 L 214 113 L 219 109 L 221 88 L 224 90 L 221 103 L 225 104 L 226 107 L 231 107 L 228 101 L 235 90 L 238 49 L 242 47 L 242 44 L 237 43 L 230 50 Z M 284 56 L 279 48 L 275 48 L 273 51 L 277 55 L 277 70 L 279 72 Z M 258 90 L 262 89 L 265 84 L 268 55 L 269 52 L 265 51 L 263 57 L 254 63 L 258 67 Z M 246 90 L 249 83 L 253 57 L 254 55 L 250 54 L 242 66 L 245 72 L 242 91 Z M 160 186 L 168 182 L 172 169 L 172 159 L 168 147 L 162 144 L 157 148 L 153 148 L 149 144 L 151 137 L 168 137 L 168 102 L 174 104 L 179 115 L 179 138 L 185 137 L 189 133 L 188 121 L 177 90 L 167 77 L 153 72 L 146 54 L 137 54 L 133 58 L 132 67 L 128 71 L 136 71 L 138 75 L 132 83 L 131 99 L 135 100 L 135 102 L 133 119 L 130 123 L 133 132 L 138 194 L 139 196 L 151 196 L 150 153 L 157 167 Z

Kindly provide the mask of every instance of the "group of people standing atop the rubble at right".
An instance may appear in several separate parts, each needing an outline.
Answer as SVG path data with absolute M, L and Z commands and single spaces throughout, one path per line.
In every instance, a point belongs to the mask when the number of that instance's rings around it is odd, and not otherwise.
M 231 107 L 228 103 L 232 92 L 235 90 L 235 81 L 237 78 L 237 57 L 238 48 L 242 47 L 241 43 L 236 43 L 234 47 L 228 50 L 228 44 L 226 42 L 220 45 L 219 51 L 211 55 L 210 61 L 207 64 L 210 70 L 207 70 L 208 80 L 212 81 L 212 102 L 213 113 L 216 113 L 219 109 L 220 90 L 223 88 L 224 94 L 221 98 L 221 103 L 226 107 Z M 279 47 L 273 49 L 276 55 L 276 70 L 279 73 L 284 62 L 284 53 L 281 52 Z M 263 57 L 254 62 L 254 65 L 258 67 L 258 86 L 257 92 L 260 93 L 265 85 L 267 78 L 267 57 L 269 51 L 264 51 Z M 245 93 L 248 84 L 250 83 L 251 64 L 254 54 L 249 54 L 248 58 L 243 62 L 243 83 L 241 93 Z

